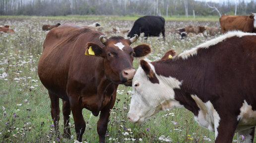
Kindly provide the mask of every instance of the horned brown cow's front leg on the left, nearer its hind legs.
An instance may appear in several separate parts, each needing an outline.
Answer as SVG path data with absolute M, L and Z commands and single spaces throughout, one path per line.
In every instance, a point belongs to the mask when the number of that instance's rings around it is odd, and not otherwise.
M 82 115 L 82 107 L 78 99 L 69 96 L 69 103 L 74 117 L 76 140 L 82 142 L 82 136 L 85 130 L 85 121 Z

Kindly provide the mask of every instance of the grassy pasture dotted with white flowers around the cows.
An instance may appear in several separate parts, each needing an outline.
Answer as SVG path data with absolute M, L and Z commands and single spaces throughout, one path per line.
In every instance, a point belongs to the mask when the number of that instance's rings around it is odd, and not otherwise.
M 36 143 L 72 143 L 76 139 L 74 121 L 70 115 L 71 139 L 58 138 L 54 134 L 54 125 L 50 113 L 50 98 L 48 91 L 41 84 L 37 75 L 37 64 L 43 51 L 43 42 L 48 32 L 42 31 L 43 24 L 57 24 L 70 21 L 75 24 L 89 25 L 99 22 L 106 36 L 124 36 L 130 30 L 133 20 L 114 19 L 54 19 L 54 18 L 0 18 L 0 25 L 10 25 L 14 34 L 0 33 L 0 142 L 36 142 Z M 144 40 L 139 37 L 131 44 L 135 47 L 147 43 L 152 48 L 145 58 L 160 59 L 169 49 L 175 49 L 177 54 L 186 49 L 214 38 L 215 36 L 193 35 L 180 39 L 179 34 L 171 30 L 184 28 L 186 25 L 201 25 L 219 27 L 218 21 L 166 21 L 166 39 L 162 36 L 149 37 Z M 113 33 L 113 28 L 117 29 Z M 138 67 L 134 59 L 133 67 Z M 81 65 L 83 66 L 83 65 Z M 106 142 L 109 143 L 212 143 L 214 133 L 200 127 L 193 119 L 192 113 L 185 108 L 172 108 L 150 117 L 142 124 L 128 121 L 131 87 L 119 85 L 115 107 L 109 118 Z M 62 105 L 62 102 L 60 102 Z M 63 116 L 60 113 L 60 133 L 63 134 Z M 83 110 L 86 122 L 83 142 L 97 143 L 97 121 L 87 109 Z M 242 137 L 240 137 L 242 138 Z M 234 142 L 237 140 L 234 136 Z

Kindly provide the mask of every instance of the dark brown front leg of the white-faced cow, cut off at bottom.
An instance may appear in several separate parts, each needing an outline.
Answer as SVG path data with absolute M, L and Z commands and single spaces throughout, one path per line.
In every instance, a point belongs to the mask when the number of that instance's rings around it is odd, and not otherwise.
M 238 121 L 236 117 L 220 116 L 219 119 L 214 118 L 215 143 L 232 143 Z

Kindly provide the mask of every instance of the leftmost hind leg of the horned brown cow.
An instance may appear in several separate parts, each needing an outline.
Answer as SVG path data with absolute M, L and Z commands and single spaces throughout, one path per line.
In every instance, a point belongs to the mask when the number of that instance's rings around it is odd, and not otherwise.
M 51 99 L 51 115 L 54 122 L 54 128 L 59 136 L 59 120 L 60 120 L 60 99 L 57 95 L 48 91 Z

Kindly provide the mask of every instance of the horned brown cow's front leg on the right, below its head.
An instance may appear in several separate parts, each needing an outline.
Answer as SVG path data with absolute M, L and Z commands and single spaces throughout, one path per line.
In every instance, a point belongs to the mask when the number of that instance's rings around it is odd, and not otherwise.
M 112 109 L 115 105 L 116 101 L 116 92 L 112 95 L 110 105 L 103 108 L 100 112 L 100 118 L 97 123 L 97 132 L 99 135 L 100 143 L 105 143 L 105 135 L 108 128 L 108 120 L 110 115 L 110 109 Z

